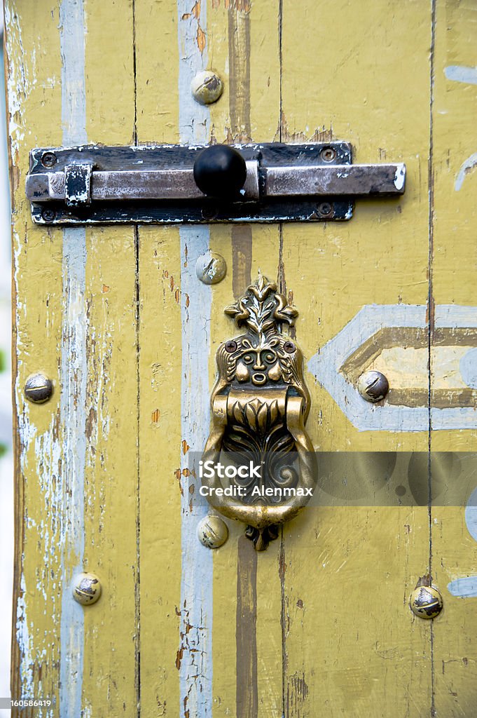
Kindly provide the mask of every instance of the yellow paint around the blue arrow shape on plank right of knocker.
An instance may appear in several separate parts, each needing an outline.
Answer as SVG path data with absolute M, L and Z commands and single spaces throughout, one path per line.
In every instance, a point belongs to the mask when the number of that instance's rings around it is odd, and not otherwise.
M 284 226 L 283 271 L 306 358 L 364 304 L 427 302 L 430 23 L 427 6 L 390 11 L 382 1 L 371 15 L 347 2 L 284 6 L 284 139 L 345 139 L 355 162 L 404 161 L 409 178 L 404 197 L 356 202 L 349 223 Z M 317 449 L 426 450 L 428 433 L 405 426 L 359 432 L 307 381 Z M 429 627 L 407 600 L 428 571 L 427 508 L 336 503 L 285 527 L 285 715 L 424 714 Z

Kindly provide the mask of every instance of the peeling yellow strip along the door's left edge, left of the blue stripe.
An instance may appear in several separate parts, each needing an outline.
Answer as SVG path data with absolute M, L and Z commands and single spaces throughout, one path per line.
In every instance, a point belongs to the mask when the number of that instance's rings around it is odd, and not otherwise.
M 43 15 L 50 11 L 51 22 L 44 22 Z M 52 144 L 61 141 L 60 123 L 51 122 L 53 115 L 60 116 L 60 88 L 54 83 L 45 83 L 44 87 L 37 83 L 37 68 L 32 62 L 35 50 L 42 57 L 45 77 L 55 77 L 60 71 L 57 6 L 44 4 L 40 9 L 7 4 L 5 16 L 9 149 L 14 166 L 12 237 L 17 267 L 13 321 L 14 346 L 18 348 L 13 353 L 12 365 L 17 412 L 14 600 L 18 623 L 13 627 L 11 683 L 16 696 L 22 693 L 22 684 L 30 684 L 30 690 L 41 690 L 42 694 L 57 699 L 60 647 L 51 637 L 56 633 L 56 615 L 60 610 L 57 587 L 60 557 L 55 551 L 60 524 L 54 513 L 60 491 L 60 397 L 56 383 L 55 394 L 44 411 L 44 407 L 27 404 L 22 391 L 29 373 L 42 368 L 55 377 L 60 362 L 61 246 L 53 241 L 55 233 L 45 233 L 28 224 L 29 208 L 24 198 L 29 144 L 44 134 Z M 31 135 L 27 134 L 28 129 Z M 24 520 L 26 516 L 28 521 Z M 19 673 L 20 662 L 24 666 L 23 675 Z

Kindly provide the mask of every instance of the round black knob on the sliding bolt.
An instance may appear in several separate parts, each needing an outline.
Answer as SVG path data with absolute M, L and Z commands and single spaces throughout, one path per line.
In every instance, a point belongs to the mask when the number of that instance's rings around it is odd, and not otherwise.
M 204 195 L 233 199 L 245 184 L 247 166 L 237 149 L 212 144 L 194 162 L 194 180 Z

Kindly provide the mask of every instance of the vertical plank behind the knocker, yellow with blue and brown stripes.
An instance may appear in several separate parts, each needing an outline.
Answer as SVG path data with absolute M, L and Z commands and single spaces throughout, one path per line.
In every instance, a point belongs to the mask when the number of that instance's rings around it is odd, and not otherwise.
M 138 141 L 230 142 L 250 134 L 255 139 L 273 139 L 279 122 L 278 32 L 270 32 L 270 27 L 277 24 L 278 9 L 272 1 L 256 9 L 242 1 L 179 2 L 176 14 L 161 4 L 137 4 Z M 157 51 L 151 53 L 151 47 Z M 263 52 L 270 66 L 266 77 Z M 215 70 L 225 83 L 222 98 L 209 108 L 194 103 L 189 88 L 193 74 L 203 67 Z M 233 90 L 239 87 L 240 93 Z M 230 715 L 237 712 L 236 663 L 252 660 L 251 656 L 235 655 L 240 591 L 237 539 L 242 527 L 231 525 L 227 544 L 210 555 L 197 546 L 195 530 L 200 512 L 189 509 L 190 497 L 181 496 L 181 491 L 186 492 L 191 478 L 187 454 L 190 457 L 192 452 L 202 452 L 209 432 L 215 351 L 225 336 L 234 333 L 223 308 L 234 293 L 245 290 L 259 269 L 273 278 L 278 267 L 278 233 L 276 228 L 266 227 L 212 227 L 181 228 L 178 236 L 174 228 L 141 228 L 139 243 L 141 526 L 148 526 L 147 533 L 141 528 L 141 633 L 152 637 L 141 640 L 141 704 L 146 714 L 156 707 L 175 710 L 179 704 L 184 715 L 209 715 L 212 709 L 214 714 Z M 207 246 L 227 261 L 226 279 L 212 288 L 204 287 L 195 276 L 197 255 Z M 158 339 L 155 327 L 163 313 L 164 329 Z M 204 358 L 208 366 L 207 396 L 199 371 Z M 166 477 L 161 493 L 156 482 L 158 462 Z M 157 505 L 147 500 L 153 493 L 163 498 L 167 512 L 158 511 Z M 207 508 L 204 511 L 207 513 Z M 177 542 L 180 517 L 181 544 Z M 164 536 L 164 550 L 151 554 L 149 544 L 158 535 Z M 260 624 L 263 601 L 258 596 L 258 661 L 260 651 L 268 655 L 270 641 L 265 640 L 265 633 L 273 630 L 280 642 L 278 549 L 274 550 L 272 574 L 275 572 L 277 590 L 272 596 L 276 597 L 276 606 L 271 612 L 263 612 Z M 270 561 L 273 565 L 273 559 Z M 161 591 L 156 605 L 158 573 L 167 577 L 167 588 Z M 199 618 L 193 616 L 198 616 L 201 607 L 206 608 L 204 585 L 210 581 L 213 591 L 212 597 L 207 594 L 207 615 L 200 615 L 198 623 Z M 261 595 L 263 584 L 258 566 L 257 590 Z M 270 608 L 270 600 L 265 604 Z M 209 661 L 222 669 L 207 673 L 211 671 Z M 207 697 L 209 675 L 212 700 Z M 265 676 L 255 672 L 253 680 L 258 681 L 258 694 L 267 696 L 260 711 L 270 714 L 268 696 L 273 694 L 274 704 L 281 701 L 280 663 L 270 662 Z M 262 680 L 268 685 L 268 693 L 260 690 Z M 199 694 L 198 687 L 202 691 Z M 275 714 L 281 714 L 281 708 Z

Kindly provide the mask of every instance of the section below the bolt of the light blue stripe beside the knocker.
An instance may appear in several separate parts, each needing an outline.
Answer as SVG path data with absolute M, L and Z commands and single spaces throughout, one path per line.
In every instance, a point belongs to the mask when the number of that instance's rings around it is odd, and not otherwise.
M 195 457 L 204 450 L 209 433 L 210 286 L 195 274 L 197 258 L 209 247 L 206 227 L 184 227 L 181 235 L 182 388 L 181 434 L 189 445 L 182 468 L 189 469 L 181 498 L 181 649 L 180 715 L 212 716 L 212 551 L 199 543 L 197 523 L 207 508 L 199 496 L 199 467 Z M 186 307 L 186 303 L 189 307 Z M 192 458 L 194 457 L 194 463 Z M 194 485 L 194 493 L 189 488 Z M 192 502 L 192 510 L 191 510 Z M 191 628 L 192 627 L 192 628 Z

